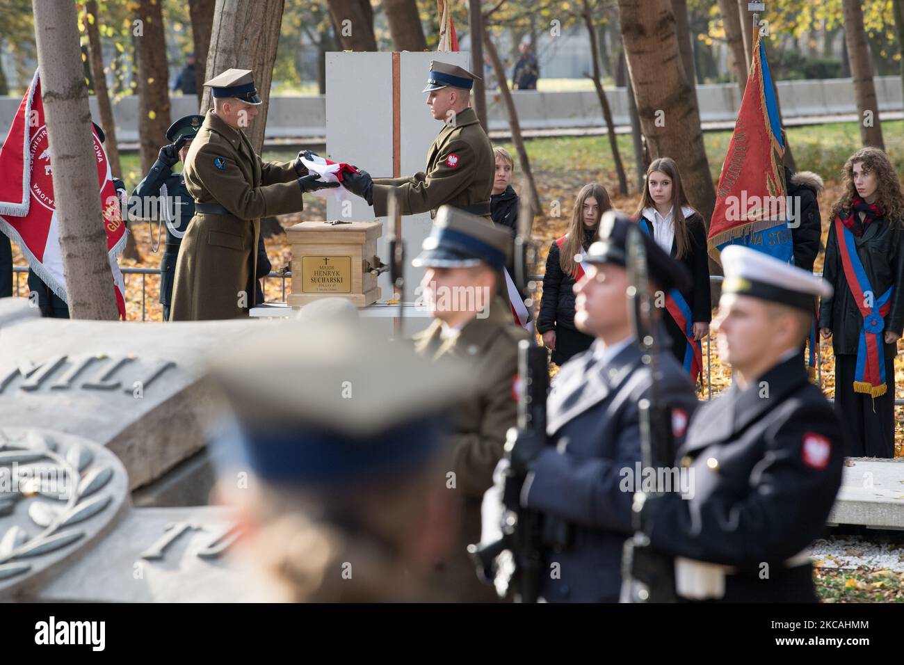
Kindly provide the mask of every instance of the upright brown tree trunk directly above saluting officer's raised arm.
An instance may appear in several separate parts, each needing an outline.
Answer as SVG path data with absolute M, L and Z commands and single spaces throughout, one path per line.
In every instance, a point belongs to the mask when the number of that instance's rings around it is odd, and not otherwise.
M 138 61 L 138 142 L 142 173 L 154 166 L 160 147 L 166 144 L 166 129 L 170 126 L 169 71 L 161 5 L 141 0 L 137 18 L 142 21 L 142 33 L 136 34 L 133 40 Z

